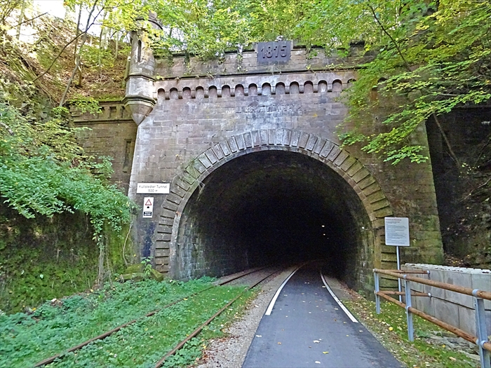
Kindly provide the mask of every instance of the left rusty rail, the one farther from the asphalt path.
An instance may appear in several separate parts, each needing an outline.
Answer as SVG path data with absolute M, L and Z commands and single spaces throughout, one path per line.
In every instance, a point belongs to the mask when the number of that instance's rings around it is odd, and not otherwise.
M 72 348 L 64 350 L 62 353 L 58 353 L 58 354 L 53 355 L 51 357 L 47 357 L 46 359 L 41 360 L 40 362 L 37 362 L 36 364 L 34 364 L 33 368 L 43 367 L 43 365 L 50 364 L 50 363 L 54 362 L 56 359 L 58 359 L 59 357 L 62 357 L 63 355 L 65 355 L 67 353 L 72 353 L 76 350 L 79 350 L 79 349 L 83 348 L 83 346 L 87 346 L 88 344 L 93 343 L 94 341 L 105 339 L 107 336 L 114 334 L 114 332 L 118 332 L 120 329 L 123 329 L 124 327 L 128 327 L 129 325 L 133 325 L 133 323 L 138 322 L 140 320 L 143 320 L 144 318 L 151 317 L 152 315 L 162 311 L 163 309 L 169 308 L 170 306 L 173 306 L 177 303 L 180 303 L 181 301 L 184 301 L 184 299 L 194 297 L 197 294 L 201 294 L 202 292 L 206 292 L 209 289 L 213 289 L 213 287 L 226 285 L 231 281 L 237 280 L 238 278 L 243 278 L 246 275 L 250 275 L 250 273 L 255 273 L 257 271 L 261 271 L 262 269 L 267 268 L 267 267 L 268 266 L 250 268 L 249 270 L 246 270 L 246 271 L 241 271 L 238 273 L 233 273 L 232 275 L 229 275 L 229 276 L 225 276 L 221 280 L 217 280 L 217 281 L 213 282 L 213 285 L 206 287 L 205 289 L 202 289 L 199 292 L 194 292 L 193 294 L 189 294 L 186 297 L 182 297 L 181 299 L 177 299 L 175 301 L 172 301 L 169 304 L 166 304 L 165 306 L 163 306 L 162 308 L 156 309 L 152 312 L 149 312 L 145 315 L 142 315 L 139 318 L 135 318 L 135 320 L 130 320 L 129 322 L 123 323 L 123 325 L 119 325 L 118 327 L 115 327 L 114 329 L 111 329 L 107 332 L 104 332 L 103 334 L 95 336 L 92 339 L 88 339 L 87 341 L 83 341 L 83 343 L 79 343 L 76 346 L 72 346 Z

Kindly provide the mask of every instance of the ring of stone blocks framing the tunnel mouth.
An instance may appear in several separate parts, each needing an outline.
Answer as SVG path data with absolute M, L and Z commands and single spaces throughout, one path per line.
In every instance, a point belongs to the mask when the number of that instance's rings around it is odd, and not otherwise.
M 328 139 L 300 130 L 252 130 L 224 139 L 210 147 L 173 179 L 170 193 L 163 201 L 156 229 L 154 257 L 157 271 L 170 271 L 171 276 L 174 276 L 174 269 L 170 266 L 175 265 L 177 261 L 177 236 L 181 214 L 192 193 L 203 180 L 234 158 L 267 150 L 304 154 L 325 163 L 337 172 L 360 198 L 375 231 L 375 238 L 381 240 L 384 217 L 393 214 L 391 205 L 375 177 L 357 158 Z

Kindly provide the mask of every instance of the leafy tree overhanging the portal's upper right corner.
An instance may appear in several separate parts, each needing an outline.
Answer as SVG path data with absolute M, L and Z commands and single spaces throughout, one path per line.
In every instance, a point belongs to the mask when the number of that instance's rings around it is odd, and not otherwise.
M 344 144 L 363 142 L 363 150 L 394 164 L 404 158 L 422 162 L 423 147 L 410 142 L 419 124 L 433 118 L 439 125 L 441 114 L 491 99 L 487 1 L 324 0 L 307 8 L 292 36 L 345 49 L 363 40 L 366 50 L 375 51 L 345 94 L 347 123 L 354 128 L 340 133 Z M 366 122 L 382 105 L 386 130 L 367 131 Z

